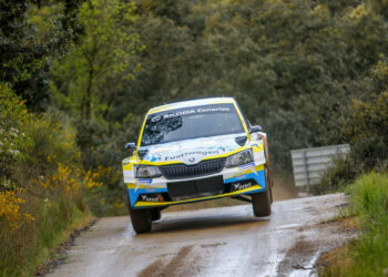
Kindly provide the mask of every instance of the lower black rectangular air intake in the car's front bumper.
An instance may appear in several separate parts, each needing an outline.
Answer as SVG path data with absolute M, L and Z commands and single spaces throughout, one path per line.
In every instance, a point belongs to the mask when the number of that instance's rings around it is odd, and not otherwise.
M 218 195 L 223 193 L 223 176 L 167 183 L 169 195 L 173 201 Z

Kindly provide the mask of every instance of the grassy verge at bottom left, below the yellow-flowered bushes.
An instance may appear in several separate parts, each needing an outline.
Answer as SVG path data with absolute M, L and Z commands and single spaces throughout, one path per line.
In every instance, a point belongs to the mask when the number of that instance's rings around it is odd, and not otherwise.
M 18 229 L 0 226 L 0 276 L 34 276 L 52 258 L 52 250 L 70 234 L 88 225 L 89 209 L 80 209 L 67 198 L 57 202 L 28 199 L 34 220 Z

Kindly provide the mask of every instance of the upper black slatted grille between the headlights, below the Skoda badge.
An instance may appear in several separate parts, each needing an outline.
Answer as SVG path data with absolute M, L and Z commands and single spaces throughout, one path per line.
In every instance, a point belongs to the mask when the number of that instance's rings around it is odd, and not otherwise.
M 165 178 L 176 179 L 215 174 L 221 172 L 224 166 L 225 158 L 214 158 L 203 161 L 196 165 L 173 164 L 163 165 L 160 168 Z

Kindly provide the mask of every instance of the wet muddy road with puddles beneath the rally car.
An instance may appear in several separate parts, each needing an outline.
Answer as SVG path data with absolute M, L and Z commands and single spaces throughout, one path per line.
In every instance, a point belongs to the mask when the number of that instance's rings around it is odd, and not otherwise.
M 314 276 L 318 256 L 348 235 L 333 218 L 341 194 L 275 202 L 268 218 L 251 205 L 164 213 L 135 235 L 129 217 L 102 218 L 75 240 L 52 276 Z

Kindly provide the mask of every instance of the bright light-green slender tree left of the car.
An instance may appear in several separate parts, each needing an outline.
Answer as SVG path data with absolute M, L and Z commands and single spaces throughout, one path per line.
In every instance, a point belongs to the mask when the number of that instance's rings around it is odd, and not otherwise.
M 116 176 L 126 129 L 122 127 L 122 120 L 115 122 L 108 116 L 115 107 L 118 94 L 141 70 L 135 55 L 143 47 L 134 29 L 135 11 L 135 4 L 129 1 L 84 2 L 78 14 L 84 34 L 72 43 L 65 58 L 55 62 L 52 72 L 51 91 L 57 106 L 75 121 L 83 167 L 114 170 L 105 176 L 106 186 L 98 188 L 95 197 L 90 198 L 98 215 L 122 213 L 118 199 L 124 202 L 124 186 Z M 126 116 L 127 112 L 123 112 Z

